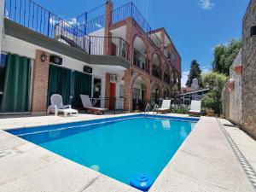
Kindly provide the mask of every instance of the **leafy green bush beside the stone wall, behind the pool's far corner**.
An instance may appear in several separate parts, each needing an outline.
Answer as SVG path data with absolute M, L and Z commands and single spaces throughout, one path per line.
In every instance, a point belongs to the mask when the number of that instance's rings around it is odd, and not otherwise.
M 203 76 L 203 84 L 210 88 L 210 93 L 203 98 L 205 105 L 208 105 L 205 107 L 212 108 L 217 114 L 221 113 L 221 93 L 227 80 L 228 78 L 220 73 L 207 73 Z

